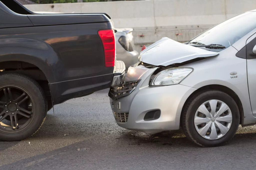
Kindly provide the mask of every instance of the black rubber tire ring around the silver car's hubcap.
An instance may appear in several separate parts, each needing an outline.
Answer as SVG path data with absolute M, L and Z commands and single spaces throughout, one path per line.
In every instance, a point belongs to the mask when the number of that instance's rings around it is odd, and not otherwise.
M 213 99 L 223 101 L 228 105 L 232 113 L 232 123 L 230 129 L 224 136 L 219 139 L 210 140 L 202 137 L 197 132 L 194 125 L 194 117 L 197 109 L 202 103 Z M 188 139 L 203 147 L 216 147 L 224 145 L 225 143 L 230 141 L 232 137 L 236 134 L 239 126 L 240 114 L 238 106 L 232 97 L 230 97 L 226 93 L 223 93 L 222 91 L 208 90 L 196 94 L 189 100 L 181 118 L 182 128 Z

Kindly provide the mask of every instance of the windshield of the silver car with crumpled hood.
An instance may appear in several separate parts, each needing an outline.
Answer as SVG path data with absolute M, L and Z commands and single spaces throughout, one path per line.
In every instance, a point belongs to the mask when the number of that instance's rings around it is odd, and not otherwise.
M 256 28 L 255 18 L 256 12 L 245 12 L 210 28 L 189 42 L 221 44 L 227 48 Z

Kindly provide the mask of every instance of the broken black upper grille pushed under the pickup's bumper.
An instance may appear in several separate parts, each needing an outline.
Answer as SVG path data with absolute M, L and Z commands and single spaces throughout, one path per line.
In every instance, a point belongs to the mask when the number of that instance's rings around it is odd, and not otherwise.
M 120 97 L 128 96 L 132 93 L 139 82 L 140 80 L 136 80 L 133 82 L 127 82 L 118 88 L 111 87 L 109 90 L 109 97 L 111 99 L 118 99 Z

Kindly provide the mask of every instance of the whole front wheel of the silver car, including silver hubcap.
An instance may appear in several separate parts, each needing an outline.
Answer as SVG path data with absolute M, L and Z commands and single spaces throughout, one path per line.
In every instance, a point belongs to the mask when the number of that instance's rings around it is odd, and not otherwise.
M 182 127 L 186 136 L 200 146 L 227 143 L 237 132 L 239 109 L 232 97 L 222 91 L 202 91 L 186 105 Z

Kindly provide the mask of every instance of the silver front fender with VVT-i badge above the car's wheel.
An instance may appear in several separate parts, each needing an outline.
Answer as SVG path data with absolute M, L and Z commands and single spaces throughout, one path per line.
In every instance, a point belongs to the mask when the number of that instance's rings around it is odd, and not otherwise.
M 248 83 L 246 59 L 236 57 L 237 50 L 230 46 L 219 52 L 216 57 L 205 58 L 200 61 L 186 64 L 182 67 L 191 67 L 194 71 L 180 84 L 202 88 L 208 85 L 222 85 L 233 90 L 239 97 L 243 112 L 244 124 L 255 123 L 256 119 L 252 114 Z M 236 72 L 236 76 L 232 73 Z

